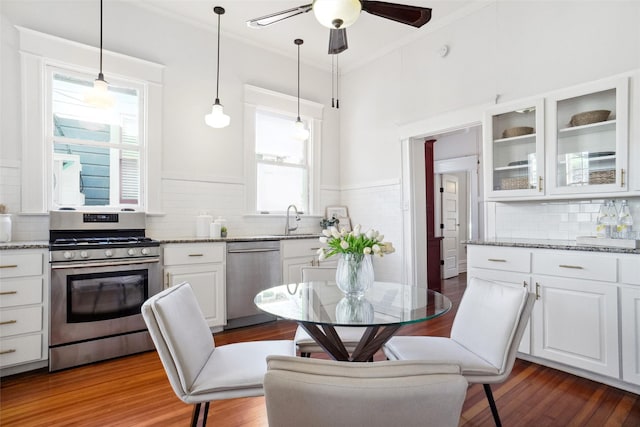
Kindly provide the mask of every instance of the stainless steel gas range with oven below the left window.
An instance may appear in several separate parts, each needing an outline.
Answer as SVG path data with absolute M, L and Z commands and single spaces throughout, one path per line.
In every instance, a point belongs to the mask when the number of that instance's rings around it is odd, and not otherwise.
M 52 211 L 49 371 L 153 349 L 140 314 L 162 289 L 143 212 Z

